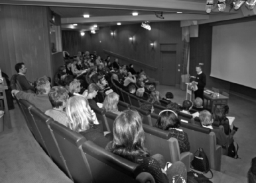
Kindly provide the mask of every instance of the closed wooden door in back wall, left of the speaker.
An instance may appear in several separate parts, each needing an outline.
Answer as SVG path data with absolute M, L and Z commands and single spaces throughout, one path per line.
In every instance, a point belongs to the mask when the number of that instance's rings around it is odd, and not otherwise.
M 175 86 L 176 52 L 161 52 L 161 85 Z

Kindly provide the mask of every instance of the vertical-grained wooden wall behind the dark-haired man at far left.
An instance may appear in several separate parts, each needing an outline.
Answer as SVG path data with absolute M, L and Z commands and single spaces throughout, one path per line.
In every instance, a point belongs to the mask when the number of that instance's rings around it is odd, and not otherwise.
M 52 76 L 48 7 L 0 5 L 0 67 L 11 77 L 24 62 L 27 78 Z

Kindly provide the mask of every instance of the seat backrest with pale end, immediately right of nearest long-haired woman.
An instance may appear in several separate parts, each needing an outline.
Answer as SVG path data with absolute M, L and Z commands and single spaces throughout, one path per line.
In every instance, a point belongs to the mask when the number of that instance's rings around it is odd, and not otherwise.
M 176 161 L 182 161 L 187 170 L 190 170 L 190 162 L 193 159 L 193 155 L 190 152 L 184 152 L 180 154 L 180 148 L 178 140 L 172 137 L 172 134 L 168 130 L 162 130 L 143 124 L 146 137 L 146 147 L 149 149 L 152 155 L 161 154 L 166 161 L 175 163 Z

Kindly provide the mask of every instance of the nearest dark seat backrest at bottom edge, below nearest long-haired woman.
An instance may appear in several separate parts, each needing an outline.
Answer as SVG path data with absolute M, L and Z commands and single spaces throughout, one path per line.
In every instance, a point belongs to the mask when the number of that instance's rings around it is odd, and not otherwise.
M 82 149 L 88 159 L 95 182 L 137 182 L 137 177 L 143 172 L 136 163 L 114 155 L 92 141 L 86 141 Z M 147 175 L 151 176 L 151 174 Z

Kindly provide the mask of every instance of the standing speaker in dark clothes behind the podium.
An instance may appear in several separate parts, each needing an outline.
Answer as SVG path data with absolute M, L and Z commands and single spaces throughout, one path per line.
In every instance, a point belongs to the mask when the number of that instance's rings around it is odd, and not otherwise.
M 204 87 L 206 86 L 206 74 L 202 72 L 202 67 L 200 65 L 196 66 L 196 76 L 191 76 L 195 79 L 192 83 L 198 86 L 198 90 L 194 92 L 195 98 L 200 97 L 204 100 Z

